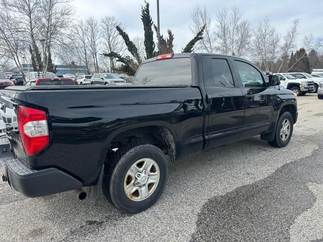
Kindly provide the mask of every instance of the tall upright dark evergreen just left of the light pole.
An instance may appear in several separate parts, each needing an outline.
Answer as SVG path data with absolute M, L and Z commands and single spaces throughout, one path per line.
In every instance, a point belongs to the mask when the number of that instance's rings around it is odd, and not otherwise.
M 152 19 L 149 12 L 149 3 L 145 1 L 145 6 L 141 6 L 141 21 L 144 30 L 144 45 L 146 59 L 156 56 L 155 43 L 153 42 Z

